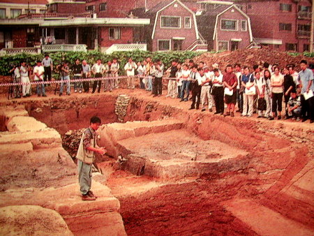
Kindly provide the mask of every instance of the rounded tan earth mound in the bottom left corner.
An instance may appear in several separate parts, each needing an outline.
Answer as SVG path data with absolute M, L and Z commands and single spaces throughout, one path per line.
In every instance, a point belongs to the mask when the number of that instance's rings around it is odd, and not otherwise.
M 0 235 L 73 235 L 59 213 L 43 207 L 1 207 Z

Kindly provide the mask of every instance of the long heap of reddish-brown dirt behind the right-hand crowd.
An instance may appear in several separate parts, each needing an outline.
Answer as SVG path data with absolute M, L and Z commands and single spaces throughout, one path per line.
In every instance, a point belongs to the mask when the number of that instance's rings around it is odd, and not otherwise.
M 287 54 L 287 52 L 280 52 L 275 50 L 270 50 L 269 48 L 251 48 L 244 50 L 236 50 L 233 52 L 220 52 L 213 54 L 211 52 L 204 53 L 199 57 L 195 57 L 194 61 L 199 63 L 204 61 L 208 66 L 214 63 L 219 64 L 220 70 L 225 68 L 227 64 L 241 64 L 241 66 L 253 66 L 256 64 L 262 65 L 264 62 L 269 64 L 278 64 L 281 68 L 287 66 L 287 64 L 295 64 L 297 70 L 301 59 L 306 59 L 309 63 L 314 63 L 314 58 L 304 57 L 303 55 L 292 56 Z

